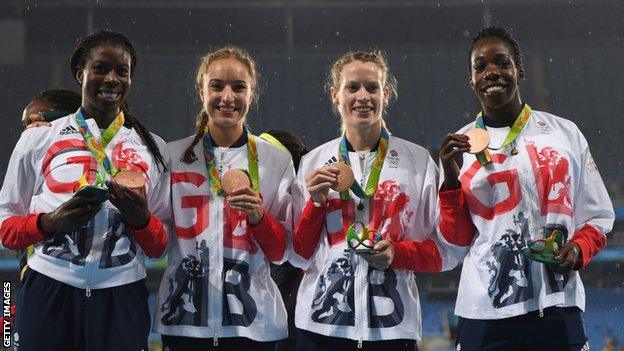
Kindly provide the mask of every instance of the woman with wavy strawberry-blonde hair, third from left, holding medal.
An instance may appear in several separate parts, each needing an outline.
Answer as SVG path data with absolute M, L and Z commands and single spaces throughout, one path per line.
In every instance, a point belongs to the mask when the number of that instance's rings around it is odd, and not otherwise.
M 413 272 L 456 263 L 436 239 L 437 167 L 385 128 L 396 81 L 381 53 L 345 54 L 328 86 L 342 136 L 303 157 L 293 186 L 290 261 L 305 271 L 297 350 L 411 351 L 421 334 Z

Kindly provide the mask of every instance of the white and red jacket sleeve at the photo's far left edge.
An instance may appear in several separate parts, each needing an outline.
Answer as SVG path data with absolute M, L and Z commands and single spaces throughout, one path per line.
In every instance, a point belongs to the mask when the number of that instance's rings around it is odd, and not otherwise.
M 35 182 L 40 177 L 34 141 L 41 138 L 33 135 L 37 133 L 41 131 L 22 133 L 0 190 L 0 244 L 13 250 L 47 239 L 37 225 L 38 215 L 29 213 Z

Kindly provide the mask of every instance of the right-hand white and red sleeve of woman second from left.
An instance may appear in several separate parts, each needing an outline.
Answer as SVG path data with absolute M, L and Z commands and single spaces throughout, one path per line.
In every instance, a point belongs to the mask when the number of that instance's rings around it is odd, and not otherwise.
M 274 151 L 282 152 L 282 151 Z M 269 165 L 275 167 L 276 165 Z M 286 246 L 292 231 L 292 196 L 290 187 L 295 179 L 295 168 L 290 157 L 283 162 L 277 194 L 270 204 L 265 204 L 260 223 L 252 227 L 252 235 L 269 261 L 281 264 L 286 261 Z

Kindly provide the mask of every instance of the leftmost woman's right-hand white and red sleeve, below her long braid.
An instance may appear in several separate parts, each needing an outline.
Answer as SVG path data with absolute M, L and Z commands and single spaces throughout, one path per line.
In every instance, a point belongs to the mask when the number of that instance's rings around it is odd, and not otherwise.
M 167 170 L 159 170 L 156 163 L 152 164 L 147 195 L 150 220 L 145 228 L 130 228 L 139 246 L 150 258 L 158 258 L 165 253 L 170 233 L 173 232 L 171 226 L 171 163 L 164 142 L 156 136 L 155 139 L 158 140 L 158 146 Z

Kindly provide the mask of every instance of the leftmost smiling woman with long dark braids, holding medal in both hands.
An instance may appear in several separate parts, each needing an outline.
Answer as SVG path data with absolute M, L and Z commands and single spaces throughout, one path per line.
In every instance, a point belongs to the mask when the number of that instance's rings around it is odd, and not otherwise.
M 13 151 L 0 236 L 12 249 L 34 244 L 17 303 L 20 350 L 147 349 L 144 257 L 167 244 L 169 176 L 164 142 L 124 111 L 135 67 L 123 35 L 82 38 L 71 58 L 80 109 L 24 131 Z

